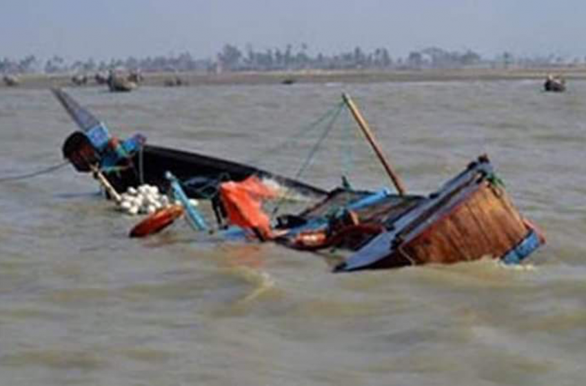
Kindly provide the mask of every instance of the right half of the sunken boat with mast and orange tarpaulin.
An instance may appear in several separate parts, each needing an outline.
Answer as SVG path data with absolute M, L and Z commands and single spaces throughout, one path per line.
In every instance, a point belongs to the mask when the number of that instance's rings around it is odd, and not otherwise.
M 240 195 L 224 195 L 221 186 L 229 217 L 239 219 L 236 225 L 262 240 L 299 250 L 353 252 L 336 265 L 335 272 L 458 263 L 489 256 L 518 263 L 545 243 L 543 234 L 516 210 L 487 156 L 478 157 L 429 196 L 406 194 L 365 120 L 345 98 L 398 194 L 337 189 L 299 214 L 279 216 L 274 229 L 267 229 L 259 221 L 264 214 L 255 201 L 268 194 L 245 194 L 250 190 L 247 185 L 257 182 L 241 183 Z M 234 192 L 236 187 L 231 185 Z

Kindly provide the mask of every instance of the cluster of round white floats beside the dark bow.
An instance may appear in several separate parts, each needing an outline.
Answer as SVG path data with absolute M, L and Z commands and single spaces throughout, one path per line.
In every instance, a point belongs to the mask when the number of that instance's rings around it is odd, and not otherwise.
M 161 207 L 170 205 L 169 197 L 159 192 L 159 188 L 153 185 L 140 185 L 129 187 L 120 195 L 119 209 L 127 214 L 151 214 Z

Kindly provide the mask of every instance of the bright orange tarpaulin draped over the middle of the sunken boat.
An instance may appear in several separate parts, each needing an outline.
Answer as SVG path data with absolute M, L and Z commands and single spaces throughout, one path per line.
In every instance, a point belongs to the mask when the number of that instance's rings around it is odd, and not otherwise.
M 241 182 L 220 184 L 220 197 L 228 214 L 228 221 L 257 236 L 271 238 L 269 216 L 262 209 L 263 199 L 272 199 L 276 192 L 267 187 L 258 177 L 250 176 Z

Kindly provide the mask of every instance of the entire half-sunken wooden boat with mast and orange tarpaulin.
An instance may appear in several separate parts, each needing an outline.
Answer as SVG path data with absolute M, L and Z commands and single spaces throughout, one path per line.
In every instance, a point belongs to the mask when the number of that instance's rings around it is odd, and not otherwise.
M 484 257 L 520 263 L 545 243 L 543 234 L 514 207 L 487 156 L 478 157 L 428 196 L 407 194 L 365 119 L 345 94 L 344 102 L 385 166 L 396 194 L 388 189 L 353 190 L 349 185 L 327 192 L 251 165 L 148 145 L 140 134 L 122 141 L 68 94 L 53 92 L 81 129 L 63 144 L 63 155 L 79 172 L 99 176 L 113 192 L 146 183 L 165 191 L 173 185 L 174 191 L 181 190 L 184 204 L 188 198 L 211 199 L 221 229 L 237 226 L 260 241 L 305 251 L 345 251 L 334 272 Z M 272 214 L 265 213 L 265 201 L 282 201 L 296 194 L 311 197 L 314 203 L 279 216 L 277 203 Z M 155 218 L 153 229 L 159 230 L 159 225 L 163 229 L 176 215 L 179 210 Z M 151 232 L 152 224 L 148 225 L 145 234 Z

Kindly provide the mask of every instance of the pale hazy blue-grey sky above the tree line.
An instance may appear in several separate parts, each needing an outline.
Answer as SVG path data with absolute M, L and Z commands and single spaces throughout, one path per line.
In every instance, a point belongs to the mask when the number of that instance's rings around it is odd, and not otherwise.
M 585 0 L 0 0 L 0 9 L 0 57 L 203 59 L 225 43 L 586 56 Z

